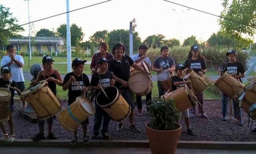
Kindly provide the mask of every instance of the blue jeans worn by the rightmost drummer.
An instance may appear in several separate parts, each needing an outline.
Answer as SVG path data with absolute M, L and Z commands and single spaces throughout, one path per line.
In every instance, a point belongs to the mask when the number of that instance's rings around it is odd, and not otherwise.
M 228 115 L 228 102 L 229 102 L 229 97 L 222 92 L 221 94 L 221 101 L 222 101 L 222 116 L 227 116 Z M 236 102 L 235 99 L 233 101 L 233 110 L 234 110 L 234 117 L 237 120 L 241 120 L 241 107 L 239 107 L 239 104 Z M 239 117 L 237 117 L 237 110 L 239 109 Z

